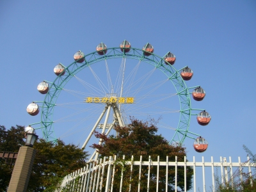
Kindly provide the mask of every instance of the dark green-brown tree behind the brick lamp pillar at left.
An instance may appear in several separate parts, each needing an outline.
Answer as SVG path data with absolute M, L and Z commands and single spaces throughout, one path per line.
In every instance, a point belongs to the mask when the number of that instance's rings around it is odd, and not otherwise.
M 17 125 L 9 130 L 0 126 L 0 151 L 18 152 L 24 144 L 23 126 Z M 83 167 L 88 157 L 87 152 L 76 145 L 65 145 L 61 140 L 54 144 L 40 139 L 35 142 L 34 148 L 36 156 L 28 191 L 54 191 L 62 178 Z M 0 191 L 6 191 L 11 176 L 12 168 L 0 159 Z

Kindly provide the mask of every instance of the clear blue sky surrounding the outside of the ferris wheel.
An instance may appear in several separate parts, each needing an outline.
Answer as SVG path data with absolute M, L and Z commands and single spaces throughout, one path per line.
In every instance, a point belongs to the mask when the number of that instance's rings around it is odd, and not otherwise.
M 79 49 L 88 54 L 100 42 L 118 47 L 124 39 L 141 49 L 149 42 L 159 56 L 173 52 L 175 68 L 188 65 L 194 72 L 188 86 L 201 85 L 207 93 L 192 106 L 209 111 L 212 120 L 203 127 L 192 117 L 189 130 L 204 136 L 209 148 L 197 154 L 193 140 L 186 139 L 188 159 L 231 156 L 237 161 L 241 156 L 245 161 L 243 145 L 255 146 L 255 34 L 256 1 L 249 0 L 2 0 L 0 124 L 9 128 L 40 121 L 26 113 L 30 102 L 44 100 L 36 86 L 53 81 L 54 66 L 72 63 Z M 162 132 L 166 138 L 173 133 Z

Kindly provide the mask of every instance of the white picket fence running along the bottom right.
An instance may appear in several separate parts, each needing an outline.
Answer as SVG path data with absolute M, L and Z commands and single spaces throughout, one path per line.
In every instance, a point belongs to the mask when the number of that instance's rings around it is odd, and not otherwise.
M 116 158 L 116 157 L 115 157 Z M 123 157 L 123 159 L 125 159 Z M 113 157 L 104 157 L 104 159 L 100 159 L 100 161 L 97 162 L 90 162 L 84 166 L 84 168 L 81 168 L 80 170 L 77 170 L 76 172 L 70 173 L 67 175 L 63 182 L 61 183 L 60 190 L 66 189 L 67 191 L 83 191 L 83 192 L 94 192 L 94 191 L 113 191 L 113 183 L 115 180 L 115 159 Z M 156 191 L 158 191 L 158 181 L 159 181 L 159 167 L 165 166 L 166 169 L 166 191 L 168 191 L 168 168 L 171 166 L 175 167 L 175 178 L 177 178 L 177 170 L 179 166 L 182 166 L 184 168 L 184 191 L 187 191 L 186 186 L 186 172 L 187 167 L 190 166 L 193 168 L 193 191 L 196 191 L 198 189 L 198 186 L 196 186 L 196 183 L 198 182 L 196 180 L 196 177 L 200 175 L 199 177 L 202 178 L 200 181 L 201 185 L 200 188 L 203 189 L 205 192 L 206 190 L 209 191 L 209 189 L 206 189 L 205 185 L 205 178 L 209 181 L 211 178 L 211 190 L 214 191 L 215 188 L 215 182 L 216 182 L 216 173 L 214 174 L 214 170 L 220 170 L 220 179 L 221 182 L 224 184 L 227 181 L 233 182 L 233 173 L 234 168 L 238 170 L 238 174 L 241 180 L 243 180 L 243 174 L 242 169 L 247 168 L 248 169 L 248 175 L 252 176 L 252 167 L 255 167 L 255 163 L 250 163 L 249 157 L 247 157 L 247 161 L 244 163 L 241 163 L 240 157 L 238 157 L 237 163 L 232 163 L 231 157 L 229 157 L 229 162 L 227 162 L 226 157 L 220 157 L 220 162 L 214 162 L 213 157 L 211 157 L 211 162 L 205 162 L 204 157 L 202 157 L 201 162 L 196 162 L 195 157 L 193 157 L 193 162 L 188 162 L 186 157 L 184 157 L 183 162 L 178 162 L 177 157 L 175 157 L 175 161 L 168 161 L 168 157 L 166 157 L 166 161 L 159 161 L 159 156 L 157 157 L 157 161 L 152 161 L 151 157 L 148 157 L 148 161 L 142 161 L 142 156 L 140 156 L 140 161 L 133 161 L 133 157 L 131 161 L 123 161 L 126 165 L 129 166 L 129 169 L 134 169 L 136 166 L 139 168 L 139 177 L 141 178 L 141 169 L 145 166 L 148 166 L 148 179 L 147 179 L 147 191 L 149 191 L 150 186 L 150 168 L 152 166 L 157 167 L 157 175 L 156 175 Z M 202 172 L 198 173 L 196 175 L 196 167 L 202 168 Z M 211 175 L 205 175 L 205 168 L 211 168 Z M 243 170 L 244 172 L 244 170 Z M 132 179 L 132 175 L 130 176 L 130 179 Z M 252 184 L 252 180 L 250 180 Z M 118 188 L 118 191 L 122 191 L 122 185 L 123 185 L 123 170 L 121 173 L 120 181 L 120 188 Z M 141 182 L 138 182 L 138 191 L 140 191 L 140 185 Z M 115 189 L 116 191 L 116 189 Z M 129 191 L 134 191 L 132 189 L 132 186 L 130 184 Z M 175 192 L 179 191 L 179 187 L 177 187 L 177 179 L 175 179 Z

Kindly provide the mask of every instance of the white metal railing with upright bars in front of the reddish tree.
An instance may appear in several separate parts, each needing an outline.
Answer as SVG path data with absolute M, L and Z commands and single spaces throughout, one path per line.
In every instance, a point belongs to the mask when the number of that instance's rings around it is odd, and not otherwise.
M 144 156 L 145 158 L 145 156 Z M 214 162 L 213 157 L 211 157 L 211 162 L 205 162 L 204 157 L 202 157 L 202 161 L 196 162 L 195 157 L 193 157 L 193 162 L 188 162 L 186 157 L 184 157 L 184 161 L 178 162 L 177 156 L 175 157 L 175 161 L 169 161 L 169 158 L 166 157 L 166 161 L 159 161 L 159 156 L 157 156 L 157 161 L 152 161 L 151 157 L 148 156 L 148 161 L 142 161 L 142 156 L 140 156 L 140 161 L 134 161 L 133 156 L 130 161 L 125 161 L 125 157 L 123 157 L 122 161 L 116 161 L 113 157 L 104 157 L 104 159 L 100 159 L 97 162 L 90 162 L 77 170 L 76 172 L 70 173 L 67 175 L 63 181 L 61 182 L 60 191 L 116 191 L 116 184 L 118 184 L 118 191 L 122 191 L 124 187 L 124 179 L 129 180 L 126 182 L 126 185 L 129 185 L 129 188 L 124 191 L 140 191 L 141 185 L 143 184 L 144 189 L 147 182 L 147 191 L 150 191 L 150 185 L 152 183 L 152 179 L 150 179 L 150 170 L 152 168 L 156 168 L 156 173 L 154 175 L 154 186 L 156 186 L 156 191 L 158 191 L 159 186 L 159 168 L 163 171 L 165 169 L 164 177 L 165 177 L 165 191 L 168 191 L 168 170 L 171 168 L 173 172 L 175 172 L 175 183 L 173 187 L 175 188 L 175 192 L 179 191 L 179 186 L 177 184 L 178 170 L 184 169 L 184 191 L 187 191 L 187 168 L 191 167 L 193 169 L 193 191 L 196 191 L 196 180 L 197 177 L 201 178 L 200 181 L 201 187 L 203 191 L 206 191 L 205 178 L 207 182 L 209 182 L 209 178 L 211 178 L 211 188 L 212 191 L 215 191 L 215 182 L 216 182 L 216 173 L 214 173 L 214 169 L 220 170 L 220 179 L 221 183 L 225 184 L 225 182 L 232 182 L 233 186 L 233 178 L 234 178 L 234 170 L 233 168 L 237 168 L 239 171 L 238 175 L 241 180 L 243 180 L 244 171 L 243 168 L 248 168 L 248 175 L 251 176 L 250 184 L 252 185 L 252 167 L 255 167 L 255 163 L 250 163 L 249 157 L 247 157 L 247 161 L 241 163 L 240 157 L 238 157 L 237 163 L 232 163 L 231 157 L 229 157 L 229 161 L 227 162 L 226 157 L 220 157 L 220 162 Z M 119 175 L 115 175 L 117 173 L 117 166 L 119 167 Z M 121 167 L 121 169 L 120 169 Z M 124 169 L 124 167 L 126 167 Z M 196 175 L 196 167 L 202 168 L 202 172 Z M 211 174 L 205 175 L 205 169 L 207 167 L 211 168 Z M 132 175 L 134 170 L 138 171 L 136 177 Z M 125 177 L 125 172 L 127 173 L 129 170 L 129 177 Z M 144 171 L 143 171 L 144 170 Z M 147 170 L 147 171 L 145 171 Z M 218 173 L 218 170 L 216 172 Z M 141 173 L 143 172 L 143 173 Z M 163 172 L 162 172 L 163 173 Z M 180 172 L 179 172 L 180 173 Z M 169 173 L 170 174 L 170 173 Z M 117 177 L 118 176 L 118 177 Z M 141 177 L 147 177 L 142 180 Z M 162 175 L 163 176 L 163 175 Z M 217 176 L 218 177 L 218 176 Z M 132 183 L 132 180 L 137 179 L 136 186 Z M 162 178 L 163 179 L 163 178 Z M 115 185 L 114 185 L 115 183 Z M 128 183 L 128 184 L 127 184 Z M 58 191 L 58 190 L 56 190 Z M 152 191 L 152 189 L 151 189 Z

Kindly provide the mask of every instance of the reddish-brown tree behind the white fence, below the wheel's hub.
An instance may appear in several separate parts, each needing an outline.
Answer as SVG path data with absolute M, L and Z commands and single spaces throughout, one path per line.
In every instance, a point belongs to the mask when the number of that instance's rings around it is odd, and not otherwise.
M 169 161 L 175 161 L 175 156 L 178 157 L 178 161 L 184 161 L 184 156 L 186 156 L 186 151 L 184 147 L 180 145 L 174 146 L 169 145 L 163 136 L 157 135 L 156 122 L 150 120 L 150 122 L 142 122 L 140 120 L 131 119 L 131 124 L 126 127 L 117 126 L 116 131 L 118 132 L 118 137 L 109 136 L 104 134 L 95 133 L 97 138 L 102 140 L 102 145 L 93 144 L 92 147 L 99 151 L 100 156 L 117 156 L 115 177 L 120 177 L 121 170 L 124 171 L 124 184 L 123 191 L 129 189 L 129 184 L 132 184 L 132 191 L 138 189 L 138 170 L 133 170 L 132 181 L 130 181 L 131 172 L 129 168 L 124 168 L 125 162 L 122 161 L 122 156 L 125 159 L 131 159 L 134 156 L 134 161 L 140 161 L 140 156 L 143 156 L 143 160 L 148 161 L 148 156 L 151 156 L 152 161 L 157 160 L 159 156 L 160 161 L 166 161 L 166 156 L 169 157 Z M 150 191 L 156 189 L 156 168 L 150 170 Z M 165 168 L 160 168 L 159 170 L 159 191 L 165 191 Z M 147 191 L 147 168 L 143 168 L 141 175 L 141 191 Z M 187 168 L 187 190 L 191 188 L 191 179 L 193 175 L 193 170 Z M 184 167 L 179 167 L 178 170 L 179 177 L 178 186 L 183 191 L 184 190 Z M 175 182 L 175 168 L 171 167 L 168 170 L 168 191 L 174 191 Z M 119 191 L 120 183 L 116 180 L 114 183 L 114 190 Z

